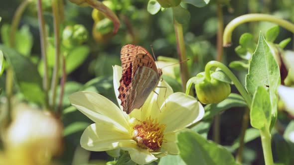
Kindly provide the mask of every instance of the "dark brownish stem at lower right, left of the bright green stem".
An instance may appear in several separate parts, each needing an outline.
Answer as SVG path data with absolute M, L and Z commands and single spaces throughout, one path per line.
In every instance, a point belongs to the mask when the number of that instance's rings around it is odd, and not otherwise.
M 240 164 L 242 164 L 244 137 L 245 137 L 246 129 L 248 127 L 248 123 L 249 123 L 249 115 L 250 115 L 250 109 L 248 107 L 246 107 L 245 112 L 243 114 L 241 135 L 240 135 L 240 141 L 239 141 L 240 147 L 239 147 L 237 155 L 236 155 L 236 161 Z

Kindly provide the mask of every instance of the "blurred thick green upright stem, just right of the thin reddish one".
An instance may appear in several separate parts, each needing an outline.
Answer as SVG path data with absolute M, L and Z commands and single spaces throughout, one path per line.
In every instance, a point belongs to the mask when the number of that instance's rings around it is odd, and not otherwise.
M 59 34 L 59 8 L 58 0 L 52 0 L 52 12 L 53 12 L 53 26 L 54 26 L 54 45 L 55 45 L 55 65 L 53 68 L 53 76 L 51 81 L 51 108 L 55 107 L 56 88 L 59 79 L 59 64 L 60 64 L 60 34 Z

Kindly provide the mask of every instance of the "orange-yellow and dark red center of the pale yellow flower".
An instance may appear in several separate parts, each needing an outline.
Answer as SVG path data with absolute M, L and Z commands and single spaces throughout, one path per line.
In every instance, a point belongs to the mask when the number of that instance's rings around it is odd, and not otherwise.
M 150 152 L 158 151 L 163 141 L 165 124 L 159 124 L 157 120 L 149 117 L 145 121 L 140 121 L 133 128 L 133 139 L 137 141 L 139 147 Z

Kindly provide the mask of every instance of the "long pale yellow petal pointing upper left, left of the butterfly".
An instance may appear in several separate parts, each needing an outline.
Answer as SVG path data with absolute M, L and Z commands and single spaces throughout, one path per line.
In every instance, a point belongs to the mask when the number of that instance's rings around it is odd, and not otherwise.
M 95 123 L 107 122 L 120 127 L 120 129 L 130 129 L 127 122 L 128 115 L 98 93 L 78 91 L 71 94 L 69 100 L 73 106 Z

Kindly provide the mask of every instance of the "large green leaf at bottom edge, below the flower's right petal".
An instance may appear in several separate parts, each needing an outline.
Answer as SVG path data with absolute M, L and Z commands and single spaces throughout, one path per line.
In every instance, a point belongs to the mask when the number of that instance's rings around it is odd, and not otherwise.
M 237 165 L 232 154 L 224 147 L 192 131 L 180 132 L 177 146 L 180 157 L 187 165 Z

